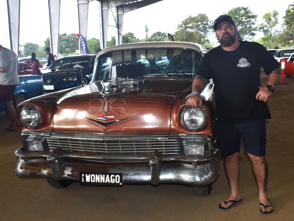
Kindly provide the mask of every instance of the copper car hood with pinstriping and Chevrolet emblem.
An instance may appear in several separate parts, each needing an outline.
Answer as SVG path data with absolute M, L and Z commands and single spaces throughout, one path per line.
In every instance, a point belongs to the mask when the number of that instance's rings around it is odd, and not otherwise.
M 90 83 L 57 101 L 53 131 L 169 133 L 172 105 L 191 86 L 191 79 L 171 78 L 148 79 L 139 88 Z

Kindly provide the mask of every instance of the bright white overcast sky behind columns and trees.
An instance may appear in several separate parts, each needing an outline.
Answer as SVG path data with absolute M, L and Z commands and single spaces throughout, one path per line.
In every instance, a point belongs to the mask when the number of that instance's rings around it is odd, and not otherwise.
M 280 21 L 282 22 L 285 10 L 292 3 L 293 0 L 275 1 L 275 4 L 256 0 L 163 0 L 124 14 L 123 34 L 132 32 L 137 38 L 145 38 L 145 25 L 149 29 L 148 36 L 158 31 L 173 34 L 178 24 L 190 15 L 195 16 L 204 13 L 210 20 L 214 20 L 220 14 L 238 6 L 249 6 L 253 13 L 258 15 L 257 24 L 262 23 L 262 17 L 266 12 L 275 9 L 279 11 Z M 32 42 L 44 45 L 44 41 L 50 35 L 48 0 L 21 0 L 20 9 L 19 43 L 23 45 L 26 42 Z M 0 11 L 0 21 L 2 21 L 0 44 L 10 48 L 6 0 L 0 0 Z M 113 14 L 114 12 L 113 10 Z M 115 25 L 111 11 L 109 12 L 108 24 Z M 99 2 L 92 1 L 89 3 L 87 38 L 100 39 L 99 30 Z M 77 0 L 61 0 L 59 33 L 78 33 Z M 108 27 L 107 38 L 110 39 L 112 35 L 115 35 L 115 28 Z M 261 33 L 257 35 L 257 37 L 261 36 Z M 214 33 L 211 33 L 209 39 L 216 42 Z

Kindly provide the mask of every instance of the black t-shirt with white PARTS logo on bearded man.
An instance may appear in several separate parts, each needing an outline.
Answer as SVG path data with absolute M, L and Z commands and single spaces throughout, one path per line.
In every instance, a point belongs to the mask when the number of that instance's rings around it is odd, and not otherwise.
M 213 79 L 216 116 L 223 124 L 237 124 L 260 116 L 271 118 L 265 102 L 256 100 L 259 91 L 260 67 L 266 75 L 280 64 L 255 42 L 240 41 L 233 51 L 218 46 L 206 53 L 197 75 Z

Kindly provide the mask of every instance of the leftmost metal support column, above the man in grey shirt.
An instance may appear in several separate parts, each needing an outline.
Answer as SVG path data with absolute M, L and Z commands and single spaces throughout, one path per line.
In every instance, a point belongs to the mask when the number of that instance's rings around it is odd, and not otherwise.
M 7 0 L 10 48 L 19 57 L 20 0 Z

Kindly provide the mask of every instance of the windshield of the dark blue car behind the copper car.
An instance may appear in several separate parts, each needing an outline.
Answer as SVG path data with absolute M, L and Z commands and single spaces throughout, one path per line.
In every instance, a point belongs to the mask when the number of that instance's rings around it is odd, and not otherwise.
M 57 60 L 50 69 L 81 68 L 87 67 L 90 57 L 65 57 Z

